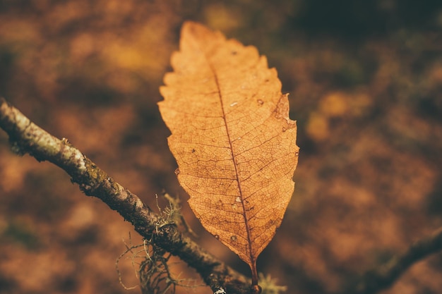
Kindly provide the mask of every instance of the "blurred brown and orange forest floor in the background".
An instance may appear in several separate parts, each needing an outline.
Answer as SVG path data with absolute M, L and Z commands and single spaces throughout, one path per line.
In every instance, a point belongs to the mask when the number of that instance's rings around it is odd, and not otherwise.
M 251 44 L 298 121 L 299 166 L 258 270 L 330 293 L 442 225 L 440 1 L 0 1 L 0 94 L 156 209 L 167 190 L 203 247 L 249 274 L 186 204 L 156 103 L 184 20 Z M 0 293 L 139 293 L 115 259 L 141 238 L 0 132 Z M 160 201 L 162 206 L 164 201 Z M 210 293 L 176 261 L 187 286 Z M 128 286 L 130 259 L 121 260 Z M 442 255 L 383 293 L 441 293 Z

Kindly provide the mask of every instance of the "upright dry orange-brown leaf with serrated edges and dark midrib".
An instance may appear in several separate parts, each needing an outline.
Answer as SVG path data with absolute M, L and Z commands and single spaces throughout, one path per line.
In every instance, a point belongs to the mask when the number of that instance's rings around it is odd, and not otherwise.
M 198 23 L 181 29 L 159 102 L 189 205 L 252 270 L 294 190 L 296 122 L 274 68 L 255 47 Z

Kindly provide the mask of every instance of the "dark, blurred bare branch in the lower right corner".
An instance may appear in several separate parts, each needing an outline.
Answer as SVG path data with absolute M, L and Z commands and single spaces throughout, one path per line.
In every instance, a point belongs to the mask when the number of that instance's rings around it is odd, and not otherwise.
M 442 250 L 442 228 L 431 236 L 410 245 L 402 255 L 392 257 L 381 266 L 367 271 L 355 283 L 350 284 L 344 294 L 374 294 L 389 288 L 414 263 Z

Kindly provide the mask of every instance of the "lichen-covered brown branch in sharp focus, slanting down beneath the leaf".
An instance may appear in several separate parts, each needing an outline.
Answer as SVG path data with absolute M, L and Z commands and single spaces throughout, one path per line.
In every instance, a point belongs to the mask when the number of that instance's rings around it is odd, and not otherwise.
M 66 171 L 73 183 L 88 196 L 100 198 L 119 212 L 135 230 L 148 240 L 181 258 L 198 271 L 213 292 L 249 293 L 246 277 L 227 267 L 205 252 L 175 225 L 158 226 L 161 219 L 136 195 L 115 180 L 73 147 L 68 140 L 50 135 L 32 123 L 18 109 L 0 97 L 0 128 L 9 135 L 9 142 L 18 154 L 30 154 L 38 161 L 49 161 Z

